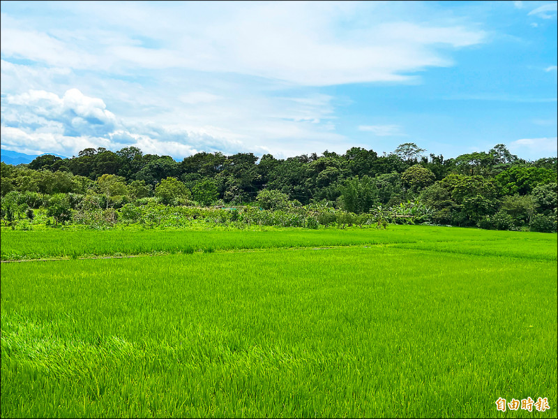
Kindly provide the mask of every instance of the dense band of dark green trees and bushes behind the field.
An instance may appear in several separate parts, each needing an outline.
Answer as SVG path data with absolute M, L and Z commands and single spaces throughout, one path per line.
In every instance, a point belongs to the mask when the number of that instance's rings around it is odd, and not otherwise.
M 526 161 L 502 144 L 455 159 L 424 152 L 407 142 L 381 156 L 360 147 L 288 159 L 201 152 L 180 162 L 137 147 L 88 148 L 71 159 L 46 154 L 28 165 L 1 163 L 2 219 L 13 224 L 43 209 L 55 224 L 99 211 L 115 221 L 123 209 L 145 205 L 252 204 L 287 213 L 304 207 L 322 221 L 338 212 L 329 223 L 342 226 L 360 214 L 391 214 L 398 222 L 556 231 L 556 158 Z M 343 223 L 342 214 L 356 218 Z

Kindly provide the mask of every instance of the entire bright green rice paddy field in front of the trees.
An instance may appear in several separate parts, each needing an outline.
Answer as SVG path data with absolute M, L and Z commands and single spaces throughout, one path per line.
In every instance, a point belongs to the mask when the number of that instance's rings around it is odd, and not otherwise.
M 557 417 L 557 235 L 3 230 L 1 246 L 2 417 Z

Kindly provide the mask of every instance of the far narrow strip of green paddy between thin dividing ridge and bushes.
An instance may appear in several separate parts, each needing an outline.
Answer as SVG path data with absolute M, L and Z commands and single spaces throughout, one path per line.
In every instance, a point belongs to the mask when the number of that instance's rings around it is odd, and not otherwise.
M 485 247 L 484 242 L 493 242 Z M 388 230 L 109 230 L 109 231 L 11 231 L 1 234 L 1 259 L 81 258 L 142 253 L 191 253 L 201 250 L 326 247 L 368 244 L 440 242 L 438 249 L 460 251 L 462 244 L 477 242 L 481 254 L 497 256 L 538 255 L 555 259 L 557 235 L 429 226 L 389 226 Z M 459 242 L 460 244 L 453 244 Z

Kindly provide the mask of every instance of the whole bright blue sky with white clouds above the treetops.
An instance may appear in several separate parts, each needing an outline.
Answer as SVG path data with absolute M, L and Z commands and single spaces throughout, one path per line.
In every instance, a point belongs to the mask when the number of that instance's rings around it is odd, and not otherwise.
M 1 1 L 1 147 L 557 156 L 556 1 Z

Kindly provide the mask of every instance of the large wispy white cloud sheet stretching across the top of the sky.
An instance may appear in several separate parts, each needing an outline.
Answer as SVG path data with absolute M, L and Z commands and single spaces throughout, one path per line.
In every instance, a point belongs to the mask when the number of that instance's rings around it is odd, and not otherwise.
M 53 7 L 70 8 L 80 21 L 102 17 L 105 26 L 118 16 L 119 26 L 114 22 L 112 31 L 82 27 L 39 31 L 4 19 L 3 56 L 116 73 L 137 68 L 183 68 L 325 86 L 413 82 L 416 76 L 409 73 L 452 65 L 439 54 L 440 45 L 466 47 L 482 43 L 485 37 L 483 31 L 462 25 L 403 22 L 395 15 L 387 16 L 394 22 L 386 22 L 382 13 L 375 13 L 381 3 L 255 2 L 227 4 L 223 10 L 216 10 L 214 3 Z M 121 19 L 123 15 L 126 20 Z M 199 15 L 204 16 L 203 24 Z M 345 36 L 335 36 L 339 25 L 345 24 L 343 20 L 359 20 L 362 15 L 370 17 L 370 25 L 358 30 L 345 28 Z M 126 26 L 153 36 L 160 45 L 138 45 L 140 41 L 121 33 Z

